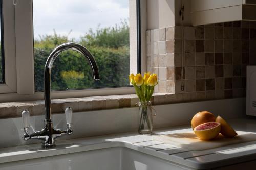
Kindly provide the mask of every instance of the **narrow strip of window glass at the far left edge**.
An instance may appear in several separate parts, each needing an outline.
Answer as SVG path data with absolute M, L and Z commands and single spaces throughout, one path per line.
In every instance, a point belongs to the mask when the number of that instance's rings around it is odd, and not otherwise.
M 4 61 L 4 48 L 3 48 L 3 44 L 4 44 L 4 42 L 3 42 L 3 37 L 2 37 L 2 35 L 3 35 L 3 24 L 2 24 L 2 21 L 3 21 L 3 13 L 2 13 L 2 1 L 0 1 L 0 29 L 1 29 L 1 31 L 0 31 L 0 83 L 4 83 L 4 77 L 5 77 L 5 75 L 4 75 L 4 64 L 5 64 L 5 61 Z

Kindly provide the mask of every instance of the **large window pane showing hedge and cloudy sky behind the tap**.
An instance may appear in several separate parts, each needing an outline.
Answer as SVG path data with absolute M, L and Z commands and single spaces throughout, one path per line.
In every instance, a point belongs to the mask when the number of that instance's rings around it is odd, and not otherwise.
M 93 54 L 101 80 L 92 79 L 86 58 L 62 52 L 51 71 L 54 90 L 130 85 L 129 0 L 33 1 L 36 91 L 44 88 L 44 66 L 52 50 L 76 42 Z

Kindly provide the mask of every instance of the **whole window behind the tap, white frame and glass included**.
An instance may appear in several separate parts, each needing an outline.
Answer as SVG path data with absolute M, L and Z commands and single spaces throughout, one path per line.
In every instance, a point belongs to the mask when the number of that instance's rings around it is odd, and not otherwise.
M 145 1 L 141 1 L 145 7 Z M 101 80 L 93 81 L 86 58 L 75 51 L 65 51 L 53 65 L 52 89 L 61 91 L 53 91 L 52 98 L 134 93 L 128 75 L 140 70 L 140 64 L 142 71 L 145 67 L 143 57 L 142 62 L 137 58 L 140 53 L 144 56 L 145 51 L 145 43 L 137 44 L 140 42 L 137 39 L 145 41 L 145 35 L 138 38 L 137 31 L 140 22 L 137 22 L 137 3 L 141 3 L 140 0 L 1 2 L 3 28 L 0 36 L 1 44 L 5 44 L 1 46 L 5 56 L 1 55 L 0 62 L 3 82 L 0 93 L 12 94 L 1 95 L 0 101 L 44 98 L 46 59 L 56 46 L 70 41 L 91 51 Z M 145 23 L 142 27 L 145 31 Z M 138 46 L 141 48 L 137 49 Z

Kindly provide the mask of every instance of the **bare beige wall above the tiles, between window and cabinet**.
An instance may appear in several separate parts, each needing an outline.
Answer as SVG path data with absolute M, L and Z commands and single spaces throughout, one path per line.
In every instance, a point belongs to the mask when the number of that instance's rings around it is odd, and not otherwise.
M 184 25 L 191 25 L 190 0 L 184 4 Z M 166 28 L 181 24 L 181 0 L 147 0 L 147 29 Z

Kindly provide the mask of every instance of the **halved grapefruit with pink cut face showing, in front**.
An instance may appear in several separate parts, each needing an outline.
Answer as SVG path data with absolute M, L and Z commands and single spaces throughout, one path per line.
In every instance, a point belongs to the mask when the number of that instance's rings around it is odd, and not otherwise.
M 219 135 L 221 124 L 219 122 L 206 122 L 194 128 L 194 132 L 201 140 L 210 140 Z

